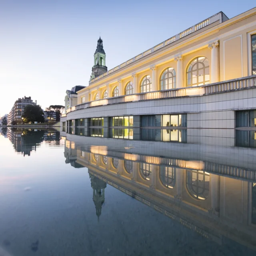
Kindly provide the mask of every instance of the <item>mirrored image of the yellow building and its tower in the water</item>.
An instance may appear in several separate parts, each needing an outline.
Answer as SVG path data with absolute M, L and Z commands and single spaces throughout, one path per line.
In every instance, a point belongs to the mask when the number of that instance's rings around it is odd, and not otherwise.
M 110 185 L 219 244 L 228 238 L 256 250 L 256 175 L 229 159 L 158 157 L 70 140 L 65 157 L 88 168 L 97 218 Z

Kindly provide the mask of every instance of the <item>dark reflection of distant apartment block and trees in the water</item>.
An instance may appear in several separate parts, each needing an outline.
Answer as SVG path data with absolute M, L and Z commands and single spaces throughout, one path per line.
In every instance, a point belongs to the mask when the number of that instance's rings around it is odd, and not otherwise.
M 24 129 L 8 128 L 1 133 L 6 134 L 12 142 L 16 152 L 23 156 L 30 156 L 30 152 L 36 151 L 42 142 L 54 145 L 60 144 L 60 132 L 54 129 Z

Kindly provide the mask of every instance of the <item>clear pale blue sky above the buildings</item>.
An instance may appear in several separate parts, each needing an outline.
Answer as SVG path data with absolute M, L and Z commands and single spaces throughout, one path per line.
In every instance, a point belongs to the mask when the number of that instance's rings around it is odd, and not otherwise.
M 87 86 L 100 33 L 110 70 L 217 12 L 232 18 L 254 7 L 253 0 L 0 0 L 0 116 L 18 98 L 45 109 Z

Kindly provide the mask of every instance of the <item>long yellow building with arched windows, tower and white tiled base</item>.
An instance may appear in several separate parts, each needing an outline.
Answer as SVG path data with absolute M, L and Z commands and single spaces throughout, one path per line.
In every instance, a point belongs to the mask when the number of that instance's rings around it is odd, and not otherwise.
M 108 71 L 98 40 L 88 86 L 61 124 L 95 128 L 90 120 L 103 117 L 110 128 L 110 118 L 133 117 L 113 129 L 134 140 L 142 127 L 255 128 L 255 21 L 256 8 L 230 19 L 219 12 Z

